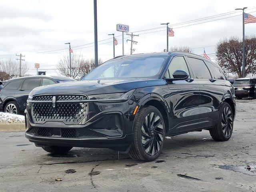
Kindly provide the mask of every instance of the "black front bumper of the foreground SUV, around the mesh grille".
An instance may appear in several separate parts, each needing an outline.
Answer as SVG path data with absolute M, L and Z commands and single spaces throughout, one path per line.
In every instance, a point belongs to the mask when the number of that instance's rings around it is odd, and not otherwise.
M 132 114 L 136 102 L 97 103 L 89 105 L 90 116 L 85 124 L 65 124 L 58 121 L 34 122 L 32 104 L 25 111 L 25 136 L 36 146 L 72 146 L 86 148 L 111 148 L 126 152 L 133 138 Z

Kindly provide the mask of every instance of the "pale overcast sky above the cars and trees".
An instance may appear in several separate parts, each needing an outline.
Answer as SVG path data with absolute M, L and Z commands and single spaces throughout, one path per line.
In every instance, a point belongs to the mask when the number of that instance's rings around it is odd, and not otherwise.
M 232 12 L 235 8 L 248 7 L 246 12 L 256 16 L 255 0 L 98 0 L 98 56 L 106 61 L 113 56 L 112 40 L 108 34 L 115 33 L 118 39 L 116 55 L 122 54 L 121 32 L 116 24 L 130 26 L 130 32 L 161 27 L 160 23 L 177 24 L 216 14 Z M 40 63 L 47 75 L 56 75 L 56 63 L 64 54 L 68 54 L 70 42 L 74 53 L 85 58 L 94 57 L 94 12 L 93 0 L 0 0 L 0 59 L 24 54 L 31 69 L 34 63 Z M 215 52 L 214 45 L 222 38 L 239 36 L 242 38 L 241 12 L 233 12 L 220 18 L 226 19 L 207 22 L 202 20 L 173 26 L 174 37 L 169 38 L 169 46 L 190 46 L 195 54 Z M 206 22 L 203 24 L 196 24 Z M 192 25 L 196 24 L 196 25 Z M 192 26 L 188 26 L 192 25 Z M 166 48 L 166 31 L 148 30 L 134 40 L 136 53 L 162 52 Z M 142 34 L 153 32 L 148 34 Z M 245 25 L 246 35 L 256 33 L 256 24 Z M 128 38 L 127 35 L 124 36 Z M 108 40 L 105 40 L 108 39 Z M 105 43 L 105 44 L 102 44 Z M 84 45 L 89 44 L 89 45 Z M 100 45 L 101 44 L 101 45 Z M 84 46 L 80 46 L 84 45 Z M 75 47 L 80 46 L 80 47 Z M 89 47 L 91 46 L 91 47 Z M 65 49 L 63 51 L 63 49 Z M 51 50 L 62 52 L 40 54 Z M 124 41 L 125 54 L 130 53 L 130 42 Z M 10 55 L 9 55 L 10 54 Z M 50 70 L 44 70 L 44 69 Z M 36 74 L 35 70 L 29 70 Z

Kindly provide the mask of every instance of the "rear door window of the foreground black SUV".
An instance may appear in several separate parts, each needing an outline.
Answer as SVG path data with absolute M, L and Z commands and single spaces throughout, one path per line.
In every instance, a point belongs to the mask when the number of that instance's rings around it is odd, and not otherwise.
M 211 74 L 203 60 L 188 57 L 188 62 L 197 79 L 210 79 Z

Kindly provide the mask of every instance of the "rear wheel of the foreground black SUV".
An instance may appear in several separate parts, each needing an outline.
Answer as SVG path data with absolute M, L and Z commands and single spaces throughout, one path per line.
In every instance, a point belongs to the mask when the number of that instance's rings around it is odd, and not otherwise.
M 210 135 L 215 141 L 227 141 L 233 132 L 234 114 L 230 104 L 223 102 L 220 106 L 218 122 L 214 128 L 211 128 Z

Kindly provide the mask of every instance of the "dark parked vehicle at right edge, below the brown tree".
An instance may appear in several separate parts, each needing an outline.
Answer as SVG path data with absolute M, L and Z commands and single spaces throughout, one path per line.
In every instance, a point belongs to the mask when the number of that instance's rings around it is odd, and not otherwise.
M 243 97 L 256 98 L 256 78 L 239 78 L 236 79 L 233 86 L 235 88 L 235 94 L 237 99 Z

